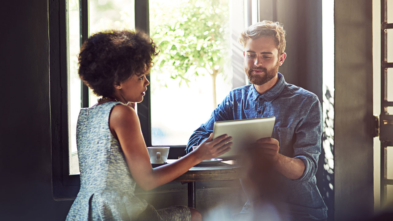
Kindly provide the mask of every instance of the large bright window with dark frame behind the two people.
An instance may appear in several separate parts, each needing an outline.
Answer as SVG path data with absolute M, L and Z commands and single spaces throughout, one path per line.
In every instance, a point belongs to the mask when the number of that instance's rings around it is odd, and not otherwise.
M 75 197 L 80 185 L 75 139 L 77 116 L 81 107 L 90 107 L 97 99 L 77 76 L 77 53 L 87 37 L 104 29 L 136 28 L 150 33 L 161 52 L 149 76 L 151 85 L 145 99 L 137 106 L 138 116 L 146 144 L 171 146 L 170 157 L 176 158 L 185 154 L 191 133 L 208 120 L 224 96 L 247 82 L 237 37 L 247 25 L 243 9 L 250 2 L 50 2 L 55 198 Z M 176 13 L 166 13 L 173 11 Z M 187 26 L 193 29 L 187 30 Z M 180 64 L 184 68 L 179 68 Z

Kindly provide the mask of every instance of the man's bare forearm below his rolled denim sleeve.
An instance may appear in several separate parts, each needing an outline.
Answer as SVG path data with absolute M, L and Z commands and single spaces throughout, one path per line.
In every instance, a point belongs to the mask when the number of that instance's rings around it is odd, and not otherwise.
M 292 180 L 299 179 L 305 169 L 303 160 L 286 157 L 282 154 L 277 155 L 277 161 L 274 166 L 279 173 Z

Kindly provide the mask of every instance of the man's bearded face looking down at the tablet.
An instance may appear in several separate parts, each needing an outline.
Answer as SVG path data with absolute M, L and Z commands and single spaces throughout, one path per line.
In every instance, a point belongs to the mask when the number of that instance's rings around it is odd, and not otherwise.
M 244 45 L 244 72 L 254 85 L 263 85 L 273 79 L 284 62 L 285 53 L 278 56 L 272 37 L 248 39 Z

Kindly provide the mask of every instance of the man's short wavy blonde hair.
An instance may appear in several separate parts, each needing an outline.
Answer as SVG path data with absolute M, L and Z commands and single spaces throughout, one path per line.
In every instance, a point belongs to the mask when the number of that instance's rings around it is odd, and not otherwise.
M 283 28 L 283 24 L 280 22 L 263 20 L 244 29 L 244 31 L 240 33 L 238 41 L 245 46 L 248 39 L 273 37 L 278 55 L 281 55 L 285 51 L 285 35 L 286 32 Z

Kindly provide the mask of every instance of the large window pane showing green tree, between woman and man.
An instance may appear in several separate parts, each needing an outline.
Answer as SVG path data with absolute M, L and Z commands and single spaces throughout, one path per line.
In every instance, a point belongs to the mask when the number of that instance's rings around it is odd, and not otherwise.
M 150 0 L 152 145 L 186 145 L 232 88 L 230 0 Z

